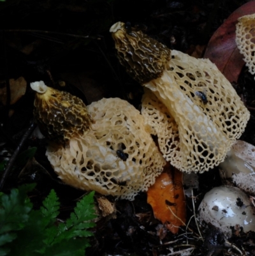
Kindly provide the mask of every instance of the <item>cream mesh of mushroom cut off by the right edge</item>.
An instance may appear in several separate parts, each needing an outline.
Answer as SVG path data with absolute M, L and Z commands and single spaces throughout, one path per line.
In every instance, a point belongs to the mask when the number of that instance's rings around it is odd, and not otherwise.
M 249 72 L 255 73 L 255 13 L 245 15 L 238 19 L 236 25 L 236 43 L 244 61 L 249 68 Z

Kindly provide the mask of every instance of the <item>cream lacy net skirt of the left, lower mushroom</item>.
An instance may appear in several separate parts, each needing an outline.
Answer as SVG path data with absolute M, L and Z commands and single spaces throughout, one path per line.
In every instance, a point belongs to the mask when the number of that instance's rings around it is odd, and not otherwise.
M 135 107 L 118 98 L 103 98 L 87 110 L 91 130 L 66 147 L 48 147 L 48 160 L 65 183 L 133 200 L 154 184 L 165 165 L 149 128 Z

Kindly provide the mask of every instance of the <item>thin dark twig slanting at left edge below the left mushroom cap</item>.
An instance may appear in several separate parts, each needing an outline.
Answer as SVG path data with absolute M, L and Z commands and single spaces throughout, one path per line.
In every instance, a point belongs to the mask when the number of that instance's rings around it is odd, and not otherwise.
M 3 177 L 0 182 L 0 190 L 3 189 L 4 182 L 6 181 L 6 178 L 9 174 L 11 168 L 13 167 L 13 164 L 18 156 L 18 153 L 20 152 L 20 149 L 24 145 L 25 140 L 27 140 L 29 138 L 29 136 L 31 135 L 31 133 L 33 132 L 35 126 L 36 126 L 36 123 L 34 121 L 32 121 L 28 130 L 24 133 L 22 139 L 20 140 L 20 143 L 18 144 L 17 149 L 15 149 L 13 155 L 11 156 L 10 161 L 8 162 L 8 165 L 6 166 L 6 169 L 4 170 Z

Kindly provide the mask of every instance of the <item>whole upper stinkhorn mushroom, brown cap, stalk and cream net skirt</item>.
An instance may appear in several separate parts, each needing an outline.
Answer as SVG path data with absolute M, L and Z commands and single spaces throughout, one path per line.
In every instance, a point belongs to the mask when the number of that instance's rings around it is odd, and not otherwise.
M 170 50 L 122 22 L 110 32 L 120 63 L 156 95 L 145 94 L 142 113 L 164 158 L 186 172 L 222 162 L 250 116 L 230 82 L 208 59 Z

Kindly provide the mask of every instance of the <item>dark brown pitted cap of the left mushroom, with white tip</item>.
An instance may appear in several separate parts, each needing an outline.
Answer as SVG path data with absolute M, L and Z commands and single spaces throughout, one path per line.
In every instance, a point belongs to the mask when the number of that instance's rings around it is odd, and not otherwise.
M 34 116 L 48 139 L 66 142 L 89 130 L 91 117 L 80 98 L 47 87 L 43 81 L 31 83 L 31 88 L 36 91 Z

